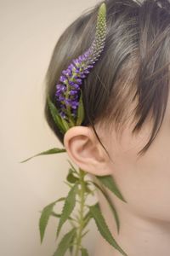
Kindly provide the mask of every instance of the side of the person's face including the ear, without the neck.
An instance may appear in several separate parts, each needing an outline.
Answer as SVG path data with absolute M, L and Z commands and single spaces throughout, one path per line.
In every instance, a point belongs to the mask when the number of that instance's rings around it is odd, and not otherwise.
M 113 175 L 131 211 L 144 218 L 170 222 L 170 102 L 161 130 L 140 157 L 138 152 L 148 142 L 152 125 L 146 120 L 135 136 L 132 128 L 125 125 L 119 141 L 114 130 L 108 133 L 96 126 L 111 160 L 90 127 L 76 126 L 67 131 L 65 148 L 71 160 L 86 172 Z

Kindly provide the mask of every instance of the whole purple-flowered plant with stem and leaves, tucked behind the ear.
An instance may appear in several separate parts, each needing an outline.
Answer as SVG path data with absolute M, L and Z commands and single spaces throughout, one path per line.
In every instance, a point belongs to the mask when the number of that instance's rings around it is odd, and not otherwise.
M 106 6 L 102 3 L 99 7 L 98 20 L 95 38 L 92 46 L 64 70 L 59 78 L 59 84 L 56 84 L 56 104 L 51 101 L 48 95 L 48 108 L 54 119 L 54 123 L 58 126 L 59 131 L 65 134 L 71 127 L 75 125 L 81 125 L 84 119 L 84 108 L 82 103 L 82 79 L 85 79 L 89 73 L 89 69 L 94 67 L 96 61 L 99 60 L 99 55 L 105 47 L 106 37 Z M 47 151 L 43 151 L 40 154 L 31 156 L 30 158 L 21 161 L 21 163 L 31 160 L 31 158 L 42 154 L 59 154 L 66 152 L 65 148 L 51 148 Z M 122 248 L 117 244 L 107 224 L 105 218 L 100 211 L 99 202 L 96 202 L 92 206 L 86 204 L 88 195 L 94 195 L 95 189 L 99 189 L 105 196 L 105 200 L 111 207 L 111 212 L 116 220 L 117 232 L 120 229 L 120 221 L 116 212 L 116 208 L 112 205 L 111 199 L 106 195 L 106 190 L 110 189 L 120 200 L 125 201 L 121 192 L 119 191 L 116 182 L 112 176 L 95 176 L 96 182 L 87 178 L 87 172 L 81 168 L 78 170 L 71 164 L 70 169 L 66 177 L 66 183 L 70 187 L 70 191 L 66 197 L 61 197 L 58 200 L 48 204 L 48 206 L 42 209 L 41 217 L 39 219 L 39 230 L 41 242 L 44 237 L 44 233 L 48 224 L 48 219 L 51 216 L 59 218 L 59 224 L 56 232 L 58 238 L 59 232 L 68 220 L 71 224 L 71 230 L 69 230 L 65 236 L 59 242 L 59 246 L 54 252 L 53 256 L 63 256 L 67 250 L 70 250 L 71 255 L 78 256 L 79 252 L 82 256 L 88 256 L 88 250 L 82 246 L 82 237 L 84 237 L 89 230 L 86 230 L 87 225 L 91 218 L 98 227 L 98 230 L 108 241 L 111 246 L 115 247 L 122 255 L 127 256 Z M 59 201 L 65 201 L 61 213 L 54 212 L 54 206 Z M 74 208 L 76 204 L 79 204 L 78 215 L 73 216 Z

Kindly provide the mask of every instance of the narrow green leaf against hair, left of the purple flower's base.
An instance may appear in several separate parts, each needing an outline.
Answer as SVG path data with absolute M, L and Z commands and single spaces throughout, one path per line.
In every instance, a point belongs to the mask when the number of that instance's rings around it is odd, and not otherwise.
M 59 115 L 59 112 L 57 110 L 57 108 L 55 107 L 54 103 L 50 100 L 50 96 L 47 96 L 47 102 L 48 102 L 48 108 L 50 110 L 50 113 L 54 119 L 54 123 L 59 127 L 59 131 L 61 131 L 61 133 L 65 133 L 66 129 L 65 129 L 65 125 L 62 122 L 62 118 Z

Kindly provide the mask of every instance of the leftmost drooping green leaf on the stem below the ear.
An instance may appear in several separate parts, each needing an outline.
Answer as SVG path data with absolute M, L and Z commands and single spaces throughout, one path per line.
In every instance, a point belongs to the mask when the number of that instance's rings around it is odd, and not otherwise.
M 54 205 L 56 204 L 56 202 L 64 201 L 64 200 L 65 200 L 65 197 L 61 197 L 57 201 L 54 201 L 51 204 L 49 204 L 47 207 L 43 208 L 42 215 L 39 219 L 39 230 L 40 230 L 40 236 L 41 236 L 41 243 L 42 243 L 43 236 L 44 236 L 47 224 L 48 224 L 48 219 L 49 219 L 51 213 L 53 212 Z

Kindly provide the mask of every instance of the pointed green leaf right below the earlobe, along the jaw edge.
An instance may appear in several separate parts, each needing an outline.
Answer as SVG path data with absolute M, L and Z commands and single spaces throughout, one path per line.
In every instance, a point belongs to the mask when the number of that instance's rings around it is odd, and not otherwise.
M 103 183 L 105 185 L 105 187 L 107 187 L 108 189 L 111 190 L 111 192 L 113 192 L 119 199 L 121 199 L 124 202 L 125 199 L 123 198 L 121 192 L 119 191 L 116 182 L 114 180 L 114 178 L 111 175 L 107 175 L 107 176 L 95 176 L 98 178 L 98 180 Z

